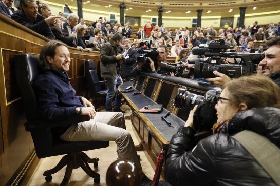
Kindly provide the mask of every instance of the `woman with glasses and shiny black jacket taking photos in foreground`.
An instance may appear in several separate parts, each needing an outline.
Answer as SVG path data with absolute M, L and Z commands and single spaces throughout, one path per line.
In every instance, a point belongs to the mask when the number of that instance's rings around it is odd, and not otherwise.
M 249 130 L 280 148 L 279 108 L 280 89 L 270 78 L 253 75 L 229 81 L 215 105 L 218 120 L 213 135 L 195 146 L 196 107 L 173 135 L 166 156 L 166 181 L 172 185 L 276 185 L 233 135 Z

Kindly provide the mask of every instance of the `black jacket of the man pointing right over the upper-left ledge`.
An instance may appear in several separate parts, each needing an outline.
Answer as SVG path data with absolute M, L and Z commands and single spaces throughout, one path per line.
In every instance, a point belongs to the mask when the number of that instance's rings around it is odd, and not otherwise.
M 23 26 L 41 34 L 49 39 L 54 39 L 54 35 L 50 30 L 49 25 L 45 22 L 45 17 L 37 14 L 36 20 L 33 22 L 25 15 L 24 11 L 18 10 L 12 14 L 11 18 L 17 23 L 22 24 Z

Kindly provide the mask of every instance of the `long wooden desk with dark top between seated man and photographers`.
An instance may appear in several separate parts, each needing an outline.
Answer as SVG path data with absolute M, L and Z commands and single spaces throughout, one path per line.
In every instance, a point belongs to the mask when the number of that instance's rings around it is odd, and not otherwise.
M 133 96 L 132 93 L 121 92 L 128 86 L 133 86 L 134 92 L 142 92 Z M 184 125 L 190 110 L 178 110 L 175 107 L 175 97 L 178 88 L 204 95 L 206 91 L 217 88 L 213 85 L 199 85 L 197 81 L 180 77 L 163 76 L 155 73 L 143 73 L 134 82 L 125 82 L 119 86 L 119 91 L 132 109 L 132 124 L 142 140 L 142 147 L 156 163 L 156 157 L 161 149 L 167 150 L 169 141 L 180 126 Z M 139 109 L 148 104 L 163 105 L 160 113 L 140 113 Z M 175 128 L 169 127 L 161 116 L 171 112 L 167 117 Z

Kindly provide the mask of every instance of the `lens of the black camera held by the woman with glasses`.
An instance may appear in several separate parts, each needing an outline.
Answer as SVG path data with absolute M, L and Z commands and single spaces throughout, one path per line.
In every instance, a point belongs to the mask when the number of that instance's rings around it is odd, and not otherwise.
M 189 92 L 186 89 L 179 88 L 178 94 L 175 97 L 175 105 L 179 109 L 190 108 L 193 109 L 195 105 L 199 105 L 205 100 L 204 96 L 200 96 Z

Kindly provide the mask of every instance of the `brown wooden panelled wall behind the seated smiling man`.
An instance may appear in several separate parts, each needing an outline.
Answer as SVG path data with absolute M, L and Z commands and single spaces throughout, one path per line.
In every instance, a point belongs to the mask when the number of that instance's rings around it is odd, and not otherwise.
M 48 42 L 43 36 L 0 14 L 0 185 L 10 185 L 34 152 L 29 132 L 25 131 L 25 113 L 17 88 L 13 56 L 39 54 Z M 99 52 L 81 52 L 69 48 L 69 79 L 77 95 L 86 95 L 84 63 L 99 61 Z

